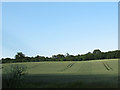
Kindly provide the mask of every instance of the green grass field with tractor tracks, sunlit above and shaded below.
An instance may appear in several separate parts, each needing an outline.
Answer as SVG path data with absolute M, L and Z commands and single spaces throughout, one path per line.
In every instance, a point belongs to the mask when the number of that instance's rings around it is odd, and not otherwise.
M 117 88 L 118 59 L 13 63 L 27 66 L 25 88 Z M 3 64 L 3 69 L 11 64 Z

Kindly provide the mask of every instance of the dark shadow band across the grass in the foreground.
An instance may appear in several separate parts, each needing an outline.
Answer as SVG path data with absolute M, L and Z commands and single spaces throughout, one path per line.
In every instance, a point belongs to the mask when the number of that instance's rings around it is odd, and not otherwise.
M 28 75 L 23 88 L 117 88 L 118 76 Z

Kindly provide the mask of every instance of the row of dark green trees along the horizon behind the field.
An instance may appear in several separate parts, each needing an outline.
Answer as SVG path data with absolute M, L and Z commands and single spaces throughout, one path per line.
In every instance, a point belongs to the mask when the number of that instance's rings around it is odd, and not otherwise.
M 88 52 L 86 54 L 66 55 L 58 54 L 52 55 L 52 57 L 45 56 L 35 56 L 28 57 L 22 52 L 17 52 L 15 59 L 2 58 L 0 61 L 2 63 L 16 63 L 16 62 L 41 62 L 41 61 L 88 61 L 88 60 L 99 60 L 99 59 L 115 59 L 120 58 L 120 50 L 101 52 L 99 49 L 95 49 L 92 53 Z

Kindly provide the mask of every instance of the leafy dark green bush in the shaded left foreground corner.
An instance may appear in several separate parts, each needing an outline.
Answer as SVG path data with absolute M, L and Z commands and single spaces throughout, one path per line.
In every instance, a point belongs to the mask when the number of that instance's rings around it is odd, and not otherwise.
M 20 88 L 23 85 L 27 67 L 22 64 L 13 64 L 3 69 L 3 88 Z

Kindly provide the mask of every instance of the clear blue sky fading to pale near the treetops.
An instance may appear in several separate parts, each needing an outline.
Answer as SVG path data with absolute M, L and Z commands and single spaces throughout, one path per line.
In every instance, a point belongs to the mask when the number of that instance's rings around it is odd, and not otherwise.
M 117 2 L 4 2 L 2 57 L 118 49 Z

